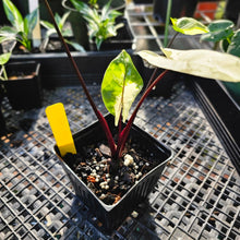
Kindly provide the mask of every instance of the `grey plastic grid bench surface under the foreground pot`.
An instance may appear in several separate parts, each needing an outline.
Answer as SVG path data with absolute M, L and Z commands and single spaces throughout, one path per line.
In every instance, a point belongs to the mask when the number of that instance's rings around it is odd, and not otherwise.
M 99 85 L 88 88 L 107 113 Z M 169 98 L 148 97 L 137 115 L 135 124 L 175 156 L 111 236 L 96 227 L 55 155 L 45 108 L 59 101 L 73 133 L 96 119 L 80 86 L 45 89 L 43 108 L 29 111 L 3 101 L 11 133 L 0 142 L 0 239 L 239 239 L 239 175 L 183 82 Z

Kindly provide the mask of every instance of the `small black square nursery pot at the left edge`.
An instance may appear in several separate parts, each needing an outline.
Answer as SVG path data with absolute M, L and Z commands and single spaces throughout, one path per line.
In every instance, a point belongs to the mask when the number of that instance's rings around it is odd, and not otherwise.
M 7 65 L 9 80 L 1 81 L 10 105 L 15 110 L 41 106 L 40 63 L 12 62 Z

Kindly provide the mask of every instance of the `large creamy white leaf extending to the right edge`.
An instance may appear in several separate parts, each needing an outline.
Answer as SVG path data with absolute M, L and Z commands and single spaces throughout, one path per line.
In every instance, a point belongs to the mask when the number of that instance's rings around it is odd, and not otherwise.
M 196 76 L 240 82 L 240 58 L 213 50 L 161 49 L 166 57 L 152 51 L 140 51 L 149 64 Z

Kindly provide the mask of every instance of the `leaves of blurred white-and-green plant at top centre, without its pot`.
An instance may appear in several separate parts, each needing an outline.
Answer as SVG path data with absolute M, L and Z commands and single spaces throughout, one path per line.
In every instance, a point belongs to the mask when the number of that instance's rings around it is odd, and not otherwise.
M 79 0 L 71 0 L 71 2 L 85 19 L 88 38 L 96 44 L 98 50 L 103 41 L 117 36 L 117 31 L 123 26 L 121 23 L 116 23 L 116 19 L 122 13 L 110 9 L 111 1 L 105 4 L 100 11 Z

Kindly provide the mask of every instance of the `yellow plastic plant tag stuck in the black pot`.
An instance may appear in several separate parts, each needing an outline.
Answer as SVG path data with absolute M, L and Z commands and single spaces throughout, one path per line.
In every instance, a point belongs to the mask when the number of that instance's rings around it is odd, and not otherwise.
M 61 156 L 67 153 L 76 154 L 63 104 L 58 103 L 48 106 L 46 115 Z

